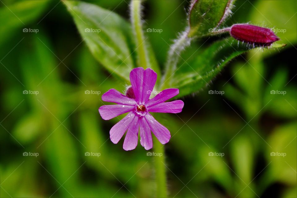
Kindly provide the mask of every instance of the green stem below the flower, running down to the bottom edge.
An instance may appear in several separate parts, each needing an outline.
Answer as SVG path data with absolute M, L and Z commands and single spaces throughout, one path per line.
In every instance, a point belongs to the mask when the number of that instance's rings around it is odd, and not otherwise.
M 155 171 L 156 171 L 156 183 L 157 183 L 156 197 L 167 197 L 164 145 L 161 144 L 157 140 L 156 137 L 154 137 L 154 147 L 153 148 L 154 148 L 154 152 L 158 154 L 158 155 L 154 156 Z

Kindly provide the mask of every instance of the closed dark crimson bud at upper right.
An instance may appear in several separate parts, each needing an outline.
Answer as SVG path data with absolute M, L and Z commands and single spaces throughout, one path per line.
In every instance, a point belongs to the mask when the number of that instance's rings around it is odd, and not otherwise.
M 251 43 L 256 46 L 269 46 L 279 40 L 271 29 L 249 24 L 232 25 L 230 35 L 239 41 Z

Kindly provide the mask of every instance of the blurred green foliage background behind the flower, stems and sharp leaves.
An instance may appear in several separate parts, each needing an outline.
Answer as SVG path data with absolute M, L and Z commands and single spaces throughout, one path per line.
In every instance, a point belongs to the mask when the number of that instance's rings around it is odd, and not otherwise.
M 127 0 L 89 2 L 129 20 Z M 161 67 L 188 6 L 144 4 L 144 27 L 162 29 L 146 33 Z M 276 34 L 287 46 L 235 58 L 209 87 L 182 98 L 182 113 L 156 114 L 172 136 L 169 197 L 296 197 L 296 8 L 238 0 L 226 26 L 285 29 Z M 1 0 L 0 16 L 1 197 L 153 197 L 157 156 L 140 143 L 124 151 L 123 138 L 113 144 L 109 130 L 123 116 L 98 113 L 102 94 L 127 84 L 93 58 L 65 5 Z

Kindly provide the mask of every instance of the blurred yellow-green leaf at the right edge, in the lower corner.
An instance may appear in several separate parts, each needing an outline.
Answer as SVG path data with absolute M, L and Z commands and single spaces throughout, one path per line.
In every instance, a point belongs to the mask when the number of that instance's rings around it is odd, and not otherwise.
M 265 158 L 269 166 L 259 178 L 260 193 L 269 185 L 280 182 L 296 186 L 296 122 L 281 125 L 272 132 L 267 140 L 269 146 Z M 296 193 L 296 192 L 295 192 Z

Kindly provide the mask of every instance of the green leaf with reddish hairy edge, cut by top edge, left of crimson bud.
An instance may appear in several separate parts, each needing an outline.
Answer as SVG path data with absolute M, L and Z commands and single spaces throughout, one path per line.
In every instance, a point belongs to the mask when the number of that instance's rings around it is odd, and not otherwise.
M 189 14 L 189 37 L 212 33 L 230 14 L 233 0 L 194 0 Z

